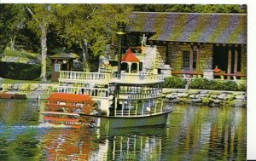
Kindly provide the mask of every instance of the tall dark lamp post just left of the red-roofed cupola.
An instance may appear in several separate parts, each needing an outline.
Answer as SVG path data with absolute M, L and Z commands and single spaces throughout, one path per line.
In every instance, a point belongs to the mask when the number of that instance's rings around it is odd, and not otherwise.
M 125 23 L 124 22 L 119 22 L 118 23 L 119 31 L 116 32 L 117 36 L 119 37 L 119 51 L 118 51 L 118 74 L 121 74 L 121 51 L 122 51 L 122 41 L 123 37 L 125 37 L 126 32 L 125 32 Z

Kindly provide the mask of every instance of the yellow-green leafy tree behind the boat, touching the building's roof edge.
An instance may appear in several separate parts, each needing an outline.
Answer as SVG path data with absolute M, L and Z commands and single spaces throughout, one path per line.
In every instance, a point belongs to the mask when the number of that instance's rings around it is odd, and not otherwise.
M 116 4 L 58 4 L 56 5 L 60 37 L 71 47 L 82 49 L 84 71 L 90 71 L 90 50 L 103 55 L 106 46 L 115 39 L 117 21 L 127 22 L 130 5 Z

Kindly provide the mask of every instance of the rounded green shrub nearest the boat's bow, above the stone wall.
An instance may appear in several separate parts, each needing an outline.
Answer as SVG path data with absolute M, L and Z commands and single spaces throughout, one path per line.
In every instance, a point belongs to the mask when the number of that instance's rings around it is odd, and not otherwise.
M 165 83 L 163 85 L 164 88 L 171 88 L 171 89 L 184 89 L 186 85 L 186 81 L 182 78 L 177 77 L 169 77 L 165 78 Z

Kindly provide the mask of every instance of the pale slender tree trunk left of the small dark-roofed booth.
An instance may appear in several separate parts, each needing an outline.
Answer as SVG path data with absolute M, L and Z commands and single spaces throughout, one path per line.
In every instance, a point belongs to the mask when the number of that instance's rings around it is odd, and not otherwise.
M 41 61 L 41 80 L 45 82 L 46 79 L 46 56 L 47 56 L 47 30 L 48 28 L 43 24 L 40 25 L 41 28 L 41 54 L 42 54 L 42 61 Z

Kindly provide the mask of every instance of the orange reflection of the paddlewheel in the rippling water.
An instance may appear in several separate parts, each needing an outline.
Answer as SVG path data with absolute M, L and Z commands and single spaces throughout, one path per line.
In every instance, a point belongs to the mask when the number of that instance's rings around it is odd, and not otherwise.
M 50 129 L 43 136 L 41 146 L 46 160 L 89 160 L 91 145 L 90 130 Z M 83 134 L 83 135 L 81 135 Z

